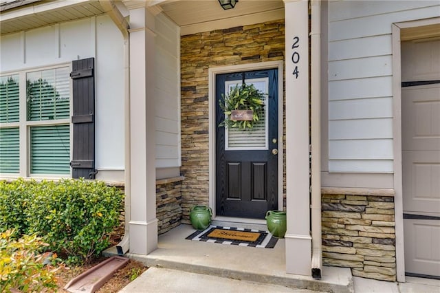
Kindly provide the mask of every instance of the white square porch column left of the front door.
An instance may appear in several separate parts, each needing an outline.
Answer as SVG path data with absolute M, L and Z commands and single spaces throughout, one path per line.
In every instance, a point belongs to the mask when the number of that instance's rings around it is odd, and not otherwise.
M 154 23 L 153 14 L 145 7 L 130 9 L 129 233 L 130 252 L 134 254 L 148 254 L 157 248 Z

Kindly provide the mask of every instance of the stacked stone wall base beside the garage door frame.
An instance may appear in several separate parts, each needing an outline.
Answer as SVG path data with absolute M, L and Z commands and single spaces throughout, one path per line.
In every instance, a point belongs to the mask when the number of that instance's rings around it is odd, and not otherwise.
M 396 281 L 394 197 L 323 194 L 322 263 Z

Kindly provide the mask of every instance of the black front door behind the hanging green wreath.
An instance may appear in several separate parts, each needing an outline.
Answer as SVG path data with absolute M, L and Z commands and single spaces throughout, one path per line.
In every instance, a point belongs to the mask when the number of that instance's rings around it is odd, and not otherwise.
M 216 125 L 221 94 L 242 83 L 265 92 L 265 114 L 252 130 L 217 127 L 216 214 L 264 219 L 278 209 L 278 69 L 216 76 Z

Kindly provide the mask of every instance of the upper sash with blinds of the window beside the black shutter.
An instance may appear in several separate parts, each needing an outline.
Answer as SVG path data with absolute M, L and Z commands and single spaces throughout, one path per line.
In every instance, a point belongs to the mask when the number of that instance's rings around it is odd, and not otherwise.
M 26 74 L 28 121 L 69 118 L 69 67 Z

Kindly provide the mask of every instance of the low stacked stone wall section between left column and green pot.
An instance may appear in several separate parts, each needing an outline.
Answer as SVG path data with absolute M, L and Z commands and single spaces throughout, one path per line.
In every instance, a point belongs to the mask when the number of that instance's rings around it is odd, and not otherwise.
M 181 181 L 156 184 L 157 233 L 181 224 Z

